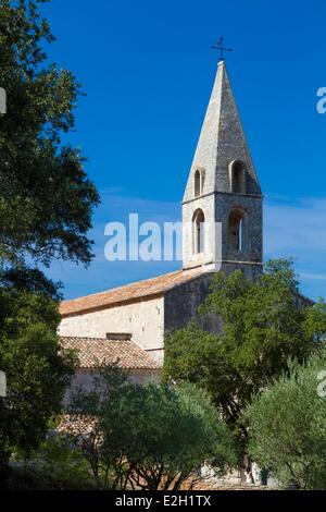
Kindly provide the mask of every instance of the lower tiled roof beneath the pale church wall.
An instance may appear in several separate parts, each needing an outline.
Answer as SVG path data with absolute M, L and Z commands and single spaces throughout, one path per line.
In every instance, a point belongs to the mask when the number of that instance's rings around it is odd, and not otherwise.
M 60 339 L 64 349 L 78 351 L 80 368 L 93 368 L 103 363 L 117 363 L 123 369 L 161 369 L 162 367 L 134 341 L 76 337 L 61 337 Z

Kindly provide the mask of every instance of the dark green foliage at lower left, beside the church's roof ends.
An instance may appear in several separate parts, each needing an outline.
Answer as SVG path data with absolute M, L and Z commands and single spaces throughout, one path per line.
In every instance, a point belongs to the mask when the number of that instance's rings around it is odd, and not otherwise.
M 8 380 L 0 399 L 0 463 L 14 449 L 28 456 L 60 411 L 75 356 L 60 352 L 59 319 L 51 298 L 0 289 L 0 368 Z

